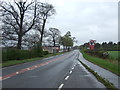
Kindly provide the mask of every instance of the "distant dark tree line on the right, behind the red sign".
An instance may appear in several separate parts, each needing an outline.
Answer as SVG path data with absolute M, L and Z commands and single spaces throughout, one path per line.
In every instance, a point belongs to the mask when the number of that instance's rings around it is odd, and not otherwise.
M 87 49 L 89 48 L 89 43 L 84 43 L 84 45 L 81 45 L 80 48 Z M 113 43 L 110 42 L 103 42 L 103 43 L 96 43 L 95 44 L 95 50 L 105 50 L 105 51 L 118 51 L 120 50 L 120 42 Z

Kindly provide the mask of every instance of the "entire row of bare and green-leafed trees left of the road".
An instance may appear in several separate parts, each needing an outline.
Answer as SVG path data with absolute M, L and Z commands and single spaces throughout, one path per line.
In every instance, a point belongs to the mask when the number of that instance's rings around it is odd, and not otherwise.
M 70 31 L 61 36 L 57 28 L 45 29 L 47 19 L 55 13 L 53 5 L 37 0 L 1 1 L 2 45 L 17 49 L 63 45 L 69 50 L 75 42 Z

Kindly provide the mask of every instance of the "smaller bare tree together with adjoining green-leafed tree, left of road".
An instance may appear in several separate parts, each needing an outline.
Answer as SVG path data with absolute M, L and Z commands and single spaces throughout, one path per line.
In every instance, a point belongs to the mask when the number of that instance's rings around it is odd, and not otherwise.
M 46 32 L 47 34 L 47 42 L 50 46 L 63 46 L 64 51 L 69 51 L 74 42 L 76 42 L 75 37 L 72 37 L 71 32 L 66 32 L 65 35 L 61 36 L 61 32 L 57 28 L 49 28 L 49 31 Z

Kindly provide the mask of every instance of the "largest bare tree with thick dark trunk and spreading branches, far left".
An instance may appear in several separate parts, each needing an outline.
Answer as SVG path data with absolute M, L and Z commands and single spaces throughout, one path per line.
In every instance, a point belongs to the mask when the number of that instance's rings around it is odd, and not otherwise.
M 16 33 L 17 48 L 21 49 L 23 36 L 32 29 L 36 19 L 36 2 L 24 2 L 22 0 L 14 2 L 0 2 L 1 20 L 7 28 L 3 32 Z M 13 30 L 13 31 L 11 31 Z M 13 34 L 12 34 L 13 35 Z M 12 36 L 11 35 L 11 36 Z M 5 37 L 7 38 L 7 37 Z M 13 37 L 9 37 L 9 39 Z

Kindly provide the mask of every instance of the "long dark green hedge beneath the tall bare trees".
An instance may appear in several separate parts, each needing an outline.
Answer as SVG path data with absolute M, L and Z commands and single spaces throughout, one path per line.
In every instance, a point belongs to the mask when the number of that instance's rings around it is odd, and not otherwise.
M 44 55 L 47 55 L 48 52 L 44 52 Z M 23 60 L 34 57 L 41 57 L 43 55 L 42 49 L 33 49 L 33 50 L 18 50 L 15 48 L 6 48 L 2 50 L 2 61 L 9 60 Z

